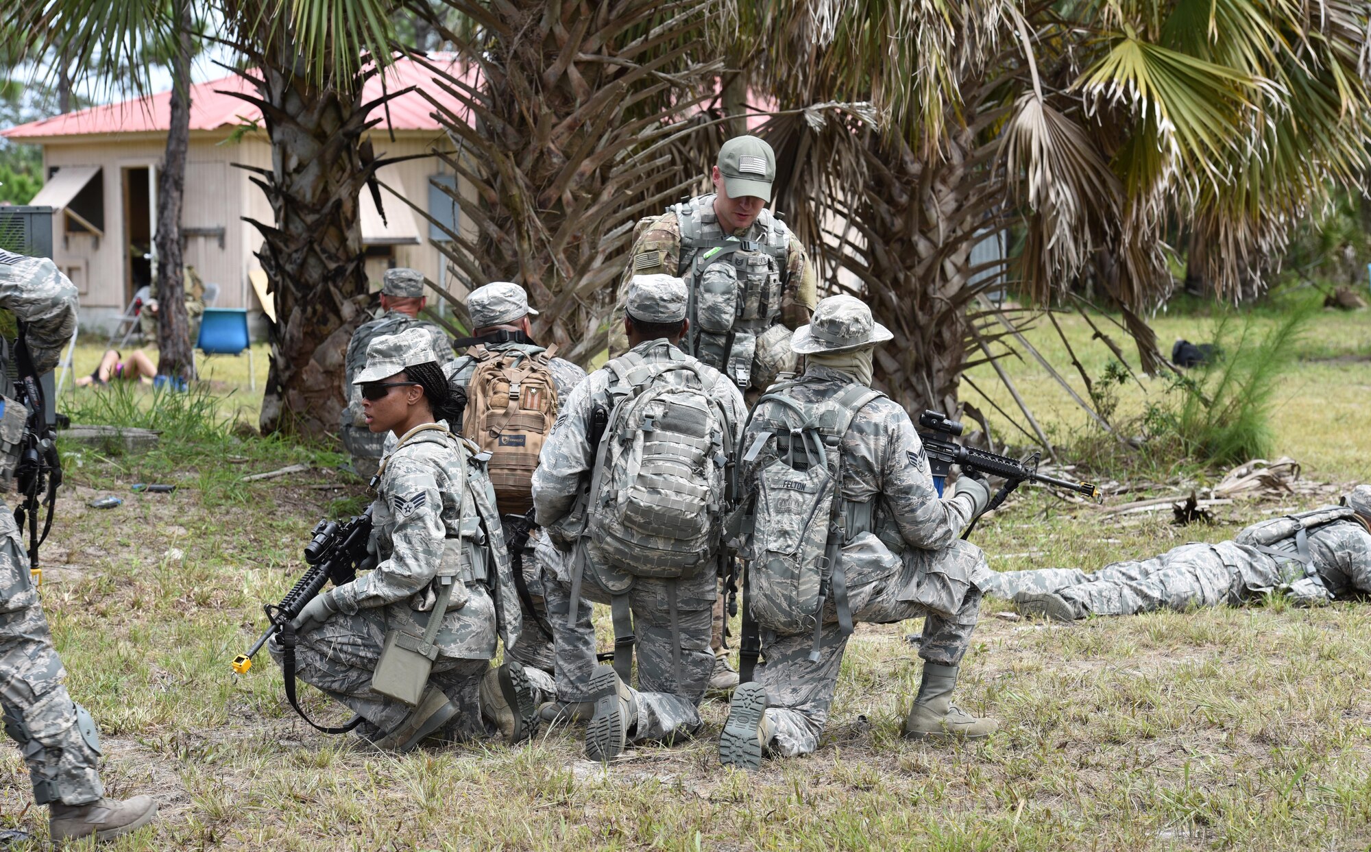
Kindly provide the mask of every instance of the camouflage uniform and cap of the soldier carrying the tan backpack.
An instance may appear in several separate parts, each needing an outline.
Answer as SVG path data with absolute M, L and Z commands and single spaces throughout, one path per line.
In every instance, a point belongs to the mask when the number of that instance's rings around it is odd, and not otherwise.
M 491 326 L 518 322 L 526 315 L 536 315 L 528 307 L 528 296 L 524 289 L 514 284 L 507 282 L 494 282 L 483 288 L 477 288 L 466 299 L 466 310 L 472 316 L 472 327 L 485 329 Z M 522 352 L 525 355 L 537 355 L 544 352 L 546 347 L 539 347 L 537 344 L 524 344 L 517 341 L 506 342 L 491 342 L 485 344 L 485 348 L 491 352 Z M 444 373 L 448 377 L 448 384 L 454 389 L 466 390 L 468 385 L 472 382 L 472 374 L 476 371 L 477 360 L 469 355 L 458 358 L 455 362 L 444 367 Z M 553 381 L 557 384 L 557 399 L 561 405 L 565 405 L 565 400 L 572 394 L 572 390 L 581 384 L 585 378 L 585 371 L 573 364 L 572 362 L 562 358 L 553 358 L 548 362 L 548 368 L 553 373 Z M 513 525 L 522 523 L 522 515 L 502 515 L 500 523 L 505 529 L 505 541 L 509 541 L 513 534 Z M 584 663 L 581 659 L 558 660 L 557 648 L 565 648 L 568 652 L 577 648 L 584 648 L 588 644 L 591 648 L 590 664 L 594 666 L 595 662 L 595 630 L 591 626 L 590 612 L 584 616 L 584 623 L 577 625 L 581 636 L 568 637 L 568 641 L 562 645 L 554 642 L 554 636 L 558 630 L 566 630 L 566 611 L 562 611 L 562 623 L 557 623 L 555 616 L 547 612 L 546 590 L 543 589 L 543 575 L 546 573 L 546 566 L 536 557 L 537 541 L 543 538 L 542 530 L 533 530 L 528 547 L 525 548 L 524 559 L 521 559 L 521 567 L 524 571 L 524 582 L 528 588 L 529 599 L 532 600 L 533 610 L 531 611 L 528 605 L 520 600 L 520 607 L 524 614 L 524 633 L 521 634 L 520 642 L 513 648 L 506 648 L 505 652 L 524 663 L 529 671 L 528 675 L 533 679 L 542 692 L 551 697 L 554 692 L 554 685 L 550 678 L 543 677 L 554 674 L 559 666 L 579 667 Z M 588 607 L 587 607 L 588 610 Z

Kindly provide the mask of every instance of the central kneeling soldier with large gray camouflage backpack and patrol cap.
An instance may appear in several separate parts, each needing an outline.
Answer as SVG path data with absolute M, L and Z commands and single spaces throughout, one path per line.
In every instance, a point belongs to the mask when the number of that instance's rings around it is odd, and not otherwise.
M 633 277 L 632 348 L 572 392 L 533 474 L 537 522 L 559 548 L 548 610 L 579 610 L 584 575 L 585 596 L 614 614 L 614 667 L 598 666 L 581 694 L 559 693 L 594 704 L 592 760 L 695 733 L 714 670 L 723 482 L 746 407 L 728 377 L 676 347 L 690 330 L 686 310 L 680 278 Z M 627 684 L 635 651 L 639 689 Z

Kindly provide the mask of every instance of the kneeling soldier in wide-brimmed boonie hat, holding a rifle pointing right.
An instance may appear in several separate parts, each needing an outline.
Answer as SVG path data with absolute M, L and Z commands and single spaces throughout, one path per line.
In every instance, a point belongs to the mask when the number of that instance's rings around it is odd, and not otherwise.
M 744 529 L 744 605 L 765 664 L 733 692 L 724 764 L 757 768 L 764 755 L 818 748 L 856 622 L 924 616 L 905 737 L 982 738 L 997 727 L 951 704 L 990 577 L 984 555 L 957 534 L 990 492 L 962 477 L 938 497 L 909 415 L 869 386 L 872 352 L 890 338 L 860 300 L 824 299 L 791 341 L 803 375 L 773 385 L 749 422 L 740 464 L 755 526 Z

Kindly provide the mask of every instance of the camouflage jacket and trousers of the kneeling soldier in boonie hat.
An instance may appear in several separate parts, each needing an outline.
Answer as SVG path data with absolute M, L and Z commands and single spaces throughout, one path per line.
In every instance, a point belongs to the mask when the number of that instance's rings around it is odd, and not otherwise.
M 783 393 L 814 405 L 851 382 L 847 373 L 810 366 Z M 765 427 L 765 418 L 754 416 L 742 447 L 750 448 Z M 743 462 L 744 493 L 757 492 L 758 473 L 772 452 Z M 957 537 L 971 521 L 971 504 L 938 497 L 913 422 L 883 396 L 857 412 L 839 452 L 846 530 L 839 559 L 853 621 L 888 623 L 923 616 L 919 655 L 930 663 L 958 664 L 979 618 L 980 590 L 991 575 L 980 549 Z M 812 631 L 762 631 L 765 664 L 757 678 L 769 699 L 769 753 L 794 756 L 818 748 L 846 641 L 831 594 L 824 604 L 817 664 L 809 662 Z

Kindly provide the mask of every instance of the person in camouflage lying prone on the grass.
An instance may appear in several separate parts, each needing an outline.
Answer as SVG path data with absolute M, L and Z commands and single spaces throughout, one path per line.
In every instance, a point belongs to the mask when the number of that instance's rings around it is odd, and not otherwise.
M 1371 593 L 1371 485 L 1339 505 L 1254 523 L 1233 541 L 1183 544 L 1094 574 L 1079 568 L 1005 571 L 987 593 L 1024 615 L 1069 622 L 1087 615 L 1238 605 L 1271 592 L 1301 604 Z

